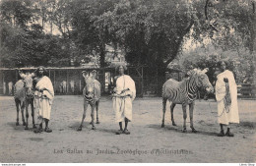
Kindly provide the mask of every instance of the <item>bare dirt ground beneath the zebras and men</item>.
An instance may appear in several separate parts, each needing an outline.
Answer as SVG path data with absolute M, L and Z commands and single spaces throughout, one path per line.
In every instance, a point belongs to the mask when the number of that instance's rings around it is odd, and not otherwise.
M 182 130 L 182 110 L 174 110 L 176 127 L 171 126 L 169 103 L 165 128 L 160 128 L 161 99 L 136 98 L 133 105 L 131 135 L 115 135 L 112 101 L 102 97 L 99 121 L 93 131 L 88 110 L 82 132 L 77 132 L 83 114 L 79 95 L 55 96 L 50 128 L 52 133 L 34 134 L 16 126 L 16 107 L 12 96 L 0 96 L 0 162 L 256 162 L 256 100 L 238 100 L 240 124 L 232 125 L 234 138 L 218 138 L 217 103 L 197 101 L 194 126 L 199 132 Z M 31 113 L 30 113 L 31 114 Z M 21 124 L 20 114 L 20 124 Z M 36 121 L 35 121 L 36 122 Z

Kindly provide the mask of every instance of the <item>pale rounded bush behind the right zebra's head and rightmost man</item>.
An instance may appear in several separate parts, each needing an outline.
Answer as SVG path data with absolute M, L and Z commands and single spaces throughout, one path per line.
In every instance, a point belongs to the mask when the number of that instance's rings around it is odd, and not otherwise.
M 192 68 L 209 68 L 207 73 L 211 83 L 216 80 L 215 72 L 220 70 L 219 62 L 224 60 L 228 63 L 228 70 L 232 71 L 236 83 L 243 83 L 246 78 L 252 77 L 255 71 L 253 55 L 249 50 L 240 47 L 239 51 L 216 49 L 209 44 L 207 47 L 198 47 L 193 51 L 183 53 L 179 57 L 181 70 L 186 72 Z

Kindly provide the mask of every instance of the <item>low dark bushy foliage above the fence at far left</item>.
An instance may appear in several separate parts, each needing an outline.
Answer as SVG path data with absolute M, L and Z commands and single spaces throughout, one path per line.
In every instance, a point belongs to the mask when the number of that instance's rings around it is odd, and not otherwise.
M 69 50 L 63 49 L 65 42 L 58 36 L 45 34 L 39 25 L 29 29 L 1 25 L 1 66 L 67 66 Z

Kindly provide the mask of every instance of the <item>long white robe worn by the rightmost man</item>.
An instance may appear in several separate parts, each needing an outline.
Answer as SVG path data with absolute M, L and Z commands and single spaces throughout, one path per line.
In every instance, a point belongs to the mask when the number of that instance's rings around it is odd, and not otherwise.
M 227 107 L 224 106 L 224 96 L 226 94 L 224 78 L 228 79 L 231 99 L 231 103 Z M 217 76 L 216 99 L 218 103 L 218 122 L 224 125 L 229 125 L 229 123 L 239 123 L 237 86 L 232 72 L 225 70 Z

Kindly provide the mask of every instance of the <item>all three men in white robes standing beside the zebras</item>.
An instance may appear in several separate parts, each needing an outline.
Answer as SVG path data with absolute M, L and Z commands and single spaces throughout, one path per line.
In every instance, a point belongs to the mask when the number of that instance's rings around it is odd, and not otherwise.
M 116 135 L 129 135 L 128 123 L 132 121 L 132 102 L 136 97 L 136 87 L 132 78 L 125 75 L 126 66 L 118 66 L 119 75 L 114 78 L 114 89 L 112 94 L 113 110 L 115 112 L 115 121 L 119 124 L 119 130 Z M 226 69 L 226 63 L 220 63 L 220 74 L 216 81 L 216 99 L 218 103 L 218 122 L 221 126 L 221 133 L 218 137 L 233 137 L 230 132 L 230 123 L 239 123 L 237 106 L 237 88 L 232 72 Z M 42 132 L 42 124 L 45 122 L 45 132 L 51 132 L 48 128 L 50 112 L 54 97 L 53 85 L 46 76 L 46 70 L 38 67 L 35 71 L 37 76 L 34 79 L 34 107 L 37 110 L 39 128 L 34 133 Z M 123 128 L 122 122 L 125 123 Z M 227 127 L 224 134 L 224 126 Z

